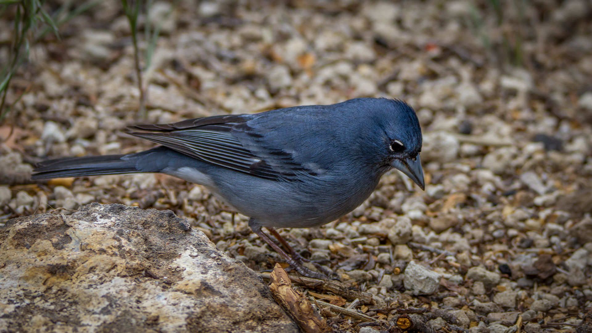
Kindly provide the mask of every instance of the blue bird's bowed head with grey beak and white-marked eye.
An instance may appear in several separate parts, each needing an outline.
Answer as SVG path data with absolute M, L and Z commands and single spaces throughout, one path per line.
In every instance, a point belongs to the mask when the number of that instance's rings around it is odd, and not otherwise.
M 373 107 L 374 148 L 380 163 L 400 170 L 424 190 L 422 160 L 422 129 L 413 108 L 400 100 L 381 98 Z

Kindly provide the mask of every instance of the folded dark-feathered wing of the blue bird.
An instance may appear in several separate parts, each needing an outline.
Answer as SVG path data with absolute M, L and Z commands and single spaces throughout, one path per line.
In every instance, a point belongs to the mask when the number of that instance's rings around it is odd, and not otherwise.
M 128 126 L 128 134 L 150 140 L 208 163 L 270 180 L 314 175 L 281 148 L 258 145 L 265 135 L 247 124 L 252 115 L 188 119 L 172 124 Z M 238 136 L 237 136 L 238 135 Z

